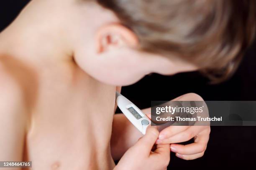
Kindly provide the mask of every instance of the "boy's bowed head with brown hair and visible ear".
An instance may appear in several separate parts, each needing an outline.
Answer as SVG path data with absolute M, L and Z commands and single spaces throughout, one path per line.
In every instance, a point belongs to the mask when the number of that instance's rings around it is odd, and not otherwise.
M 78 0 L 77 8 L 74 60 L 112 85 L 195 70 L 224 80 L 255 31 L 254 0 Z

